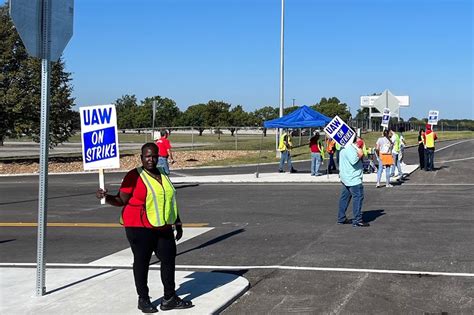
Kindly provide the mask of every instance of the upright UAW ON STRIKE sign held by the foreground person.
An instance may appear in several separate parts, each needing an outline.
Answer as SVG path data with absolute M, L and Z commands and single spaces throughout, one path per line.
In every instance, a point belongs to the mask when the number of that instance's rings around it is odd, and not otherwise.
M 115 105 L 80 107 L 84 170 L 119 168 Z

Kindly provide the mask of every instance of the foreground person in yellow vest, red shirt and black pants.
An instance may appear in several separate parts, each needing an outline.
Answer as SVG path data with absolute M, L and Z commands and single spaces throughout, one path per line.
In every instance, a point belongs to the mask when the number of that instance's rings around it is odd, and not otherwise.
M 125 227 L 133 252 L 138 309 L 143 313 L 158 312 L 148 296 L 148 270 L 153 252 L 161 262 L 164 297 L 160 309 L 190 308 L 192 302 L 181 299 L 175 291 L 175 238 L 179 240 L 183 236 L 176 190 L 166 173 L 156 167 L 158 147 L 155 143 L 144 144 L 140 157 L 142 166 L 125 175 L 116 195 L 99 188 L 96 197 L 105 198 L 112 206 L 123 207 L 120 223 Z

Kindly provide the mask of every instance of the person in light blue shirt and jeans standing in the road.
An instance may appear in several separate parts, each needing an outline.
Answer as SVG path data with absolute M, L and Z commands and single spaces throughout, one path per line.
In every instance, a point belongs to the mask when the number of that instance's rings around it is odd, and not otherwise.
M 339 198 L 339 212 L 337 224 L 352 223 L 353 227 L 367 227 L 368 223 L 362 220 L 362 203 L 364 201 L 364 186 L 362 184 L 363 165 L 362 148 L 364 142 L 355 137 L 354 143 L 341 148 L 339 153 L 339 177 L 341 178 L 341 196 Z M 352 199 L 352 222 L 347 219 L 346 211 Z

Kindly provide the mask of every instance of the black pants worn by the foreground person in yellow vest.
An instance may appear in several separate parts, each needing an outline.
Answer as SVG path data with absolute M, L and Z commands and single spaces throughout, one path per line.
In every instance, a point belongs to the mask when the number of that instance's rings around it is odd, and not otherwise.
M 133 277 L 139 297 L 148 297 L 148 270 L 153 252 L 161 261 L 161 282 L 165 299 L 175 294 L 176 242 L 173 230 L 126 227 L 125 232 L 133 252 Z

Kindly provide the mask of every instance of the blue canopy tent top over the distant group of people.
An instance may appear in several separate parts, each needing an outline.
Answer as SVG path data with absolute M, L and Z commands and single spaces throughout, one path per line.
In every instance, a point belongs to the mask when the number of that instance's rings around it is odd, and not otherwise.
M 297 110 L 280 118 L 265 121 L 265 128 L 311 128 L 326 126 L 331 118 L 303 105 Z

